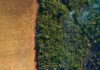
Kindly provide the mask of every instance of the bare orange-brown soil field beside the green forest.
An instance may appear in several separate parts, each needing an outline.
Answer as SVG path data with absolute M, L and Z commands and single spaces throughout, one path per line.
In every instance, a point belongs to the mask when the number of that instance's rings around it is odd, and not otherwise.
M 36 70 L 37 0 L 0 0 L 0 70 Z

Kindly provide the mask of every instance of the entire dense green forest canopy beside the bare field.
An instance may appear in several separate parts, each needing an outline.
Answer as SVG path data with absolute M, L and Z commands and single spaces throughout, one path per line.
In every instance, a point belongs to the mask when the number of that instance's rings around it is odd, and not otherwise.
M 100 51 L 99 4 L 99 0 L 39 0 L 38 70 L 84 69 L 87 56 Z

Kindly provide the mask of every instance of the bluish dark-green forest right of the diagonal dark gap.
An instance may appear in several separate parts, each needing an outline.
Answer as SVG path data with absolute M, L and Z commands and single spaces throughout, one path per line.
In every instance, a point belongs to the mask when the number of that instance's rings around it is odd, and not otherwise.
M 85 59 L 88 64 L 88 62 L 90 62 L 91 60 L 93 61 L 93 57 L 100 53 L 100 1 L 89 0 L 86 2 L 85 0 L 83 0 L 82 2 L 80 2 L 79 0 L 76 0 L 76 5 L 74 4 L 74 2 L 71 2 L 71 0 L 61 0 L 61 2 L 71 12 L 74 23 L 81 29 L 82 36 L 86 37 L 89 45 L 91 46 L 88 47 L 90 51 L 87 55 L 88 57 L 86 57 Z M 80 4 L 77 2 L 80 2 Z M 87 6 L 88 8 L 86 8 Z M 87 70 L 96 70 L 96 68 L 99 69 L 99 67 L 100 64 L 94 66 L 94 68 L 90 67 L 90 69 Z

